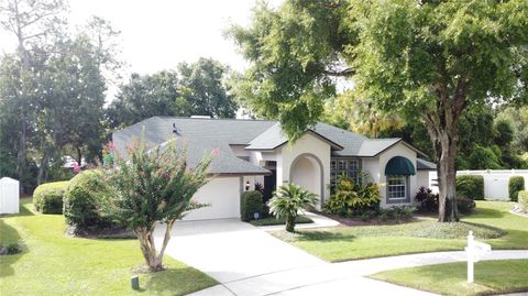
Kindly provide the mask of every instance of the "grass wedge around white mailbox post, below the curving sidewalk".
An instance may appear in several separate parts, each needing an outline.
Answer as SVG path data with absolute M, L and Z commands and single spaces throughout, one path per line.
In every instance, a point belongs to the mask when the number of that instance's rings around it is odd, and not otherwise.
M 528 292 L 528 260 L 475 263 L 474 283 L 466 282 L 464 262 L 382 272 L 371 277 L 442 295 L 491 295 Z

